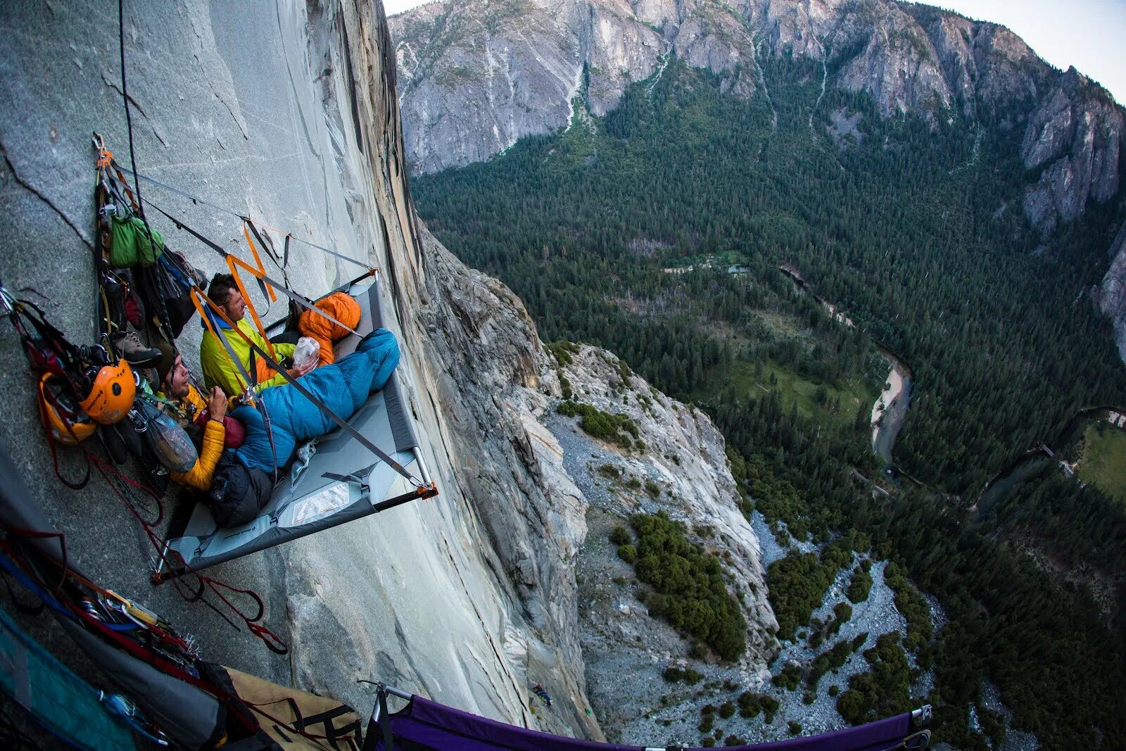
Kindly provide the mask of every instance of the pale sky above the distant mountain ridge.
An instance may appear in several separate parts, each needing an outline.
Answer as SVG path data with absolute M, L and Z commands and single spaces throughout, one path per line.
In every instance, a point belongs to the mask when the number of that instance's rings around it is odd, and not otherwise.
M 428 0 L 384 0 L 388 15 Z M 1126 102 L 1126 0 L 939 0 L 928 3 L 1017 33 L 1060 70 L 1074 65 Z

